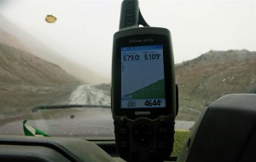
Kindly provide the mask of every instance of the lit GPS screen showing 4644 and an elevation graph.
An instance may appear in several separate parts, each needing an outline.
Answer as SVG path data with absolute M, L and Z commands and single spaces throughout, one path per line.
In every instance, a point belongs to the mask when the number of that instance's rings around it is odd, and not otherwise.
M 166 107 L 162 45 L 121 48 L 121 108 Z

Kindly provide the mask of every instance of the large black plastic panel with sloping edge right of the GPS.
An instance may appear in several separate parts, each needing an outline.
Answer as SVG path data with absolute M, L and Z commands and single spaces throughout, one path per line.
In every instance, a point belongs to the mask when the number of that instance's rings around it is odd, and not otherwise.
M 256 95 L 224 95 L 195 123 L 177 161 L 255 161 L 255 129 Z

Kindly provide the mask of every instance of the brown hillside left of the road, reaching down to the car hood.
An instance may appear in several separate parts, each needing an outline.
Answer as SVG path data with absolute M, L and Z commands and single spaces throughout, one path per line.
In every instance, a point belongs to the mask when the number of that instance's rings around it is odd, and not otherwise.
M 66 100 L 82 83 L 61 67 L 26 52 L 15 36 L 1 30 L 0 36 L 0 119 Z

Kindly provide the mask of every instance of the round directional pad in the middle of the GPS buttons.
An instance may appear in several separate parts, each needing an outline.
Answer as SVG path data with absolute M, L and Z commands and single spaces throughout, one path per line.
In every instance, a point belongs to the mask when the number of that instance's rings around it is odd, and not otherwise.
M 154 130 L 150 124 L 141 122 L 133 127 L 132 136 L 138 143 L 147 144 L 148 142 L 152 141 Z

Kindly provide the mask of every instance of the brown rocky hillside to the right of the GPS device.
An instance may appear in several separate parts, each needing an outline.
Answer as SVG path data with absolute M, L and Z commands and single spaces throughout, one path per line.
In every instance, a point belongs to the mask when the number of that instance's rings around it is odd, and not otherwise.
M 180 111 L 177 119 L 196 119 L 212 101 L 230 93 L 256 91 L 256 52 L 209 51 L 176 65 Z

